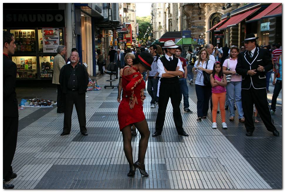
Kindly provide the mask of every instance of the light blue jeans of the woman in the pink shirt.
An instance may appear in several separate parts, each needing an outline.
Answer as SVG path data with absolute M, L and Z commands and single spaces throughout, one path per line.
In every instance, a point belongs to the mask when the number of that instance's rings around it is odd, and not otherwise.
M 242 110 L 242 82 L 241 81 L 231 81 L 227 83 L 227 96 L 229 99 L 229 109 L 230 109 L 230 117 L 235 116 L 235 104 L 237 105 L 237 111 L 239 113 L 239 119 L 244 117 L 244 113 Z

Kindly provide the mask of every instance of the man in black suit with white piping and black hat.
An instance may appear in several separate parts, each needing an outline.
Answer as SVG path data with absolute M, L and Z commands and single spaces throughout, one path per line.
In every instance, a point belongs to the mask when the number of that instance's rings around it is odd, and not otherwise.
M 256 46 L 256 39 L 258 37 L 254 34 L 245 36 L 242 43 L 246 50 L 238 55 L 235 68 L 236 72 L 242 75 L 242 108 L 245 118 L 244 125 L 247 130 L 246 136 L 252 136 L 254 131 L 253 104 L 267 130 L 273 132 L 274 136 L 279 136 L 279 132 L 273 125 L 266 91 L 265 73 L 273 68 L 271 55 L 266 49 Z

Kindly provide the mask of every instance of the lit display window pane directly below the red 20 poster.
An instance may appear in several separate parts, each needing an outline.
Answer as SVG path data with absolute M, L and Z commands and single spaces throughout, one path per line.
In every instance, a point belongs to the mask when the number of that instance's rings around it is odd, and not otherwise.
M 53 59 L 54 56 L 39 57 L 41 79 L 53 77 Z

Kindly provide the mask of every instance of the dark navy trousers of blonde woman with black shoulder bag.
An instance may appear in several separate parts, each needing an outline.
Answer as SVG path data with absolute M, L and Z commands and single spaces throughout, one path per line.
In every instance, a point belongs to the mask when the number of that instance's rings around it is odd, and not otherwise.
M 205 117 L 209 110 L 209 100 L 212 94 L 212 88 L 205 85 L 195 85 L 197 95 L 197 115 Z

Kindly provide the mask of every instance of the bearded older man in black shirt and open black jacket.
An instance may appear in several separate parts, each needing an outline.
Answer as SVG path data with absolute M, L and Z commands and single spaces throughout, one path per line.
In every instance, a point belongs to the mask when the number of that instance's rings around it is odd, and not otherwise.
M 59 82 L 65 98 L 65 111 L 63 132 L 68 135 L 71 130 L 71 116 L 75 104 L 80 132 L 87 136 L 86 115 L 85 115 L 85 92 L 88 85 L 88 73 L 84 65 L 78 65 L 79 55 L 73 51 L 70 55 L 70 64 L 64 65 L 60 70 Z

